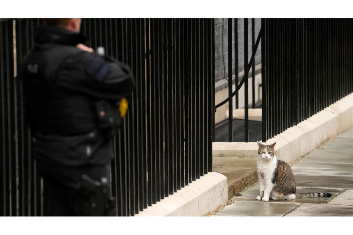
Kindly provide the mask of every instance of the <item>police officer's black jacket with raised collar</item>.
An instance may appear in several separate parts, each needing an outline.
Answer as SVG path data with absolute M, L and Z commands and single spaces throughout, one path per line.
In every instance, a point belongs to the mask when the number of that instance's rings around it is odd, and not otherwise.
M 59 165 L 101 165 L 113 157 L 112 140 L 97 125 L 94 103 L 116 102 L 134 89 L 130 68 L 76 48 L 80 34 L 39 27 L 24 59 L 26 114 L 32 154 Z

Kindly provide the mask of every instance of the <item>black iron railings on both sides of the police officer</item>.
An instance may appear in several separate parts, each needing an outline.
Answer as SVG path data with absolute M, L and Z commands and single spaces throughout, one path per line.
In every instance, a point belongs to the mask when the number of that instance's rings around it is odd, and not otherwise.
M 14 74 L 39 24 L 1 21 L 1 216 L 40 216 L 45 200 Z M 117 215 L 133 216 L 212 170 L 214 19 L 83 19 L 81 32 L 136 78 L 111 162 Z

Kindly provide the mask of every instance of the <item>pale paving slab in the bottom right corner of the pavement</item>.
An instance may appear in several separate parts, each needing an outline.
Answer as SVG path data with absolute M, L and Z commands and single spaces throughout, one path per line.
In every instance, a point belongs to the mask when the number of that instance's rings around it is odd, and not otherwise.
M 286 216 L 353 216 L 353 206 L 304 203 Z

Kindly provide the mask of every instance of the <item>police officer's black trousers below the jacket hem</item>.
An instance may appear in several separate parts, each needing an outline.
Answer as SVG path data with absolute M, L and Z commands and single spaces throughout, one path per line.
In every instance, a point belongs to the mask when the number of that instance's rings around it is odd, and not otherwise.
M 37 167 L 43 177 L 44 216 L 100 216 L 90 212 L 92 192 L 79 182 L 84 174 L 96 181 L 109 179 L 109 164 L 68 167 L 37 161 Z

